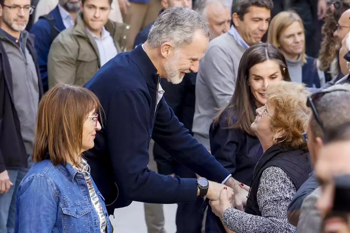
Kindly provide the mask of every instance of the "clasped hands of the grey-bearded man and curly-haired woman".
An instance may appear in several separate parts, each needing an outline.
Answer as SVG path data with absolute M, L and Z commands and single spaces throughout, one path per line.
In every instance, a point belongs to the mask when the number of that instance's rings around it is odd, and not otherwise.
M 210 182 L 207 198 L 210 199 L 212 211 L 219 218 L 222 218 L 223 212 L 229 207 L 244 211 L 249 189 L 250 187 L 243 183 L 233 185 L 232 189 L 224 184 Z

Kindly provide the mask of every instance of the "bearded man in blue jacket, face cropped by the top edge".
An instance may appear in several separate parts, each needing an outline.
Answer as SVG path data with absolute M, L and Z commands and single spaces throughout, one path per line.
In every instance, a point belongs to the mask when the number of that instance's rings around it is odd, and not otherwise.
M 47 59 L 50 46 L 59 32 L 74 26 L 80 0 L 59 0 L 56 8 L 48 15 L 41 16 L 30 29 L 35 35 L 35 49 L 38 54 L 40 74 L 44 92 L 48 90 Z

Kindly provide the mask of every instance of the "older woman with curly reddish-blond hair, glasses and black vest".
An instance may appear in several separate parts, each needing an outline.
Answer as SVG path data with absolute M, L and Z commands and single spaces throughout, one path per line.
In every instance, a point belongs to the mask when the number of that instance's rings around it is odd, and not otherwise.
M 235 203 L 226 190 L 218 201 L 210 201 L 212 211 L 236 233 L 296 232 L 288 223 L 287 207 L 311 172 L 302 137 L 309 116 L 305 104 L 309 92 L 302 83 L 280 81 L 268 86 L 267 95 L 251 125 L 264 154 L 254 169 L 245 212 L 233 208 Z

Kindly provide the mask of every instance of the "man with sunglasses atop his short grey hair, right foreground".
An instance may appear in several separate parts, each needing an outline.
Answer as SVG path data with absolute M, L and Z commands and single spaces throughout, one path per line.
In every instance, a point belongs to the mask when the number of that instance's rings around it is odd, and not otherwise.
M 311 115 L 304 140 L 308 144 L 310 160 L 315 165 L 324 144 L 324 132 L 350 122 L 350 85 L 334 85 L 308 97 Z M 297 226 L 297 232 L 320 232 L 321 218 L 316 209 L 320 195 L 315 175 L 295 194 L 287 211 L 288 220 Z

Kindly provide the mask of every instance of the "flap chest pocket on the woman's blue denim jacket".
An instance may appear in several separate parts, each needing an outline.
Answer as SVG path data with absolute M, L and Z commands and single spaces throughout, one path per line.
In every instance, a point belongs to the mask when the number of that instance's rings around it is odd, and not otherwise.
M 62 203 L 63 232 L 90 232 L 93 225 L 90 207 L 87 202 Z

